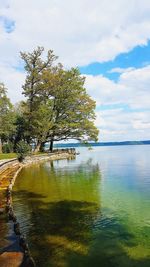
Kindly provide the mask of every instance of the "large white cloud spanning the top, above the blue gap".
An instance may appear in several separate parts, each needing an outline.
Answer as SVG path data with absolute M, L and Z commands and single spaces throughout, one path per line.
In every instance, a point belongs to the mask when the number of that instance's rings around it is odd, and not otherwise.
M 150 38 L 148 0 L 9 0 L 1 14 L 16 22 L 3 53 L 16 59 L 37 45 L 54 49 L 65 65 L 108 61 Z M 3 44 L 1 44 L 4 48 Z M 0 49 L 2 51 L 2 49 Z M 1 54 L 1 53 L 0 53 Z M 8 58 L 8 57 L 7 57 Z

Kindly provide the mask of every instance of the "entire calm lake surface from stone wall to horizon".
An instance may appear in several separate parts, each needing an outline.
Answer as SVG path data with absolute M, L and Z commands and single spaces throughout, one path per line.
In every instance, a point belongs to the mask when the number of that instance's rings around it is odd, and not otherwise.
M 14 206 L 38 267 L 150 266 L 150 146 L 26 167 Z

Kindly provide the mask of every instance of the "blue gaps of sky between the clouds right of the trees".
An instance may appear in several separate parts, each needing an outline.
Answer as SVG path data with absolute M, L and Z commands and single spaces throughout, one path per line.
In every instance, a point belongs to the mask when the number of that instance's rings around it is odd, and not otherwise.
M 146 67 L 150 64 L 150 41 L 147 45 L 136 46 L 128 53 L 121 53 L 114 60 L 107 62 L 94 62 L 86 66 L 80 66 L 80 72 L 83 75 L 102 75 L 109 80 L 117 82 L 123 72 L 126 70 L 136 70 Z M 101 104 L 97 110 L 113 110 L 121 108 L 126 112 L 141 112 L 147 111 L 149 108 L 130 108 L 126 103 L 124 104 Z

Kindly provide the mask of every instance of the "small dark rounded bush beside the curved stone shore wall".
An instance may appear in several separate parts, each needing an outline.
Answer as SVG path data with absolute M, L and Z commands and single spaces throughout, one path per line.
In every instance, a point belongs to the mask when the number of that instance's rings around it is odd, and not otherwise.
M 24 141 L 20 141 L 16 146 L 17 157 L 22 162 L 25 157 L 30 153 L 31 147 Z

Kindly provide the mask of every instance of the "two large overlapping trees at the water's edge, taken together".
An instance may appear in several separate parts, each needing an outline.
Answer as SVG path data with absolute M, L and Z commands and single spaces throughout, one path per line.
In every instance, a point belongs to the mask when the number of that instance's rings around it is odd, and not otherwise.
M 23 86 L 26 96 L 28 143 L 36 142 L 36 151 L 45 143 L 68 139 L 96 141 L 98 130 L 94 125 L 95 102 L 86 93 L 85 78 L 78 69 L 64 70 L 54 64 L 57 57 L 44 49 L 21 53 L 27 77 Z

